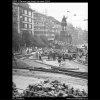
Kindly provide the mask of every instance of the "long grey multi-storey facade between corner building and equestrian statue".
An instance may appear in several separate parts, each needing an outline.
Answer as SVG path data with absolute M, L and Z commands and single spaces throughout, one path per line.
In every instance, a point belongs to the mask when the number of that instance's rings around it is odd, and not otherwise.
M 56 34 L 60 34 L 60 22 L 51 16 L 34 12 L 34 34 L 45 35 L 48 38 L 54 38 Z

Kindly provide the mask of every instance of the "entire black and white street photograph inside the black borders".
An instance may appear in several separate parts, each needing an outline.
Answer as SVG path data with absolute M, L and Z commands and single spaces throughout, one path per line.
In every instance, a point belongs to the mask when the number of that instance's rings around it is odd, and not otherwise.
M 88 99 L 88 3 L 12 2 L 12 99 Z

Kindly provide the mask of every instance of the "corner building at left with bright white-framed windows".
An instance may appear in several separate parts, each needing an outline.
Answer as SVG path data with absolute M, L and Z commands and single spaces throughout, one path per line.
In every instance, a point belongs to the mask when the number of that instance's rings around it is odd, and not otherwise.
M 13 3 L 13 10 L 17 14 L 18 33 L 23 32 L 23 30 L 28 30 L 31 34 L 34 34 L 34 11 L 29 8 L 28 4 Z

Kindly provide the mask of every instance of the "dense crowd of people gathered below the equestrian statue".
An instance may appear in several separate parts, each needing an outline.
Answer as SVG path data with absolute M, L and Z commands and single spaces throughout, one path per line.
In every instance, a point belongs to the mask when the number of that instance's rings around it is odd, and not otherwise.
M 59 65 L 61 61 L 66 59 L 75 60 L 78 62 L 87 65 L 88 64 L 88 51 L 87 50 L 78 50 L 77 52 L 71 52 L 66 50 L 52 49 L 52 48 L 36 48 L 36 58 L 42 60 L 43 56 L 47 56 L 48 60 L 58 60 Z

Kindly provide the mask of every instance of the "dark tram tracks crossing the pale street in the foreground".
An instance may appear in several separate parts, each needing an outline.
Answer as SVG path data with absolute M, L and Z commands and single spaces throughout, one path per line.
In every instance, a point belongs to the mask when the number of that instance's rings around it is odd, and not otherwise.
M 37 62 L 37 63 L 41 63 L 41 62 Z M 29 71 L 42 71 L 42 72 L 49 72 L 49 73 L 59 73 L 59 74 L 65 74 L 65 75 L 69 75 L 72 77 L 79 77 L 79 78 L 83 78 L 83 79 L 88 79 L 88 73 L 87 72 L 77 72 L 77 71 L 73 71 L 71 69 L 65 69 L 65 68 L 60 68 L 60 67 L 56 67 L 56 66 L 52 66 L 52 65 L 48 65 L 48 64 L 44 64 L 41 63 L 43 65 L 47 65 L 49 67 L 47 68 L 42 68 L 42 67 L 31 67 L 29 65 L 27 65 L 27 67 L 14 67 L 15 69 L 26 69 Z

